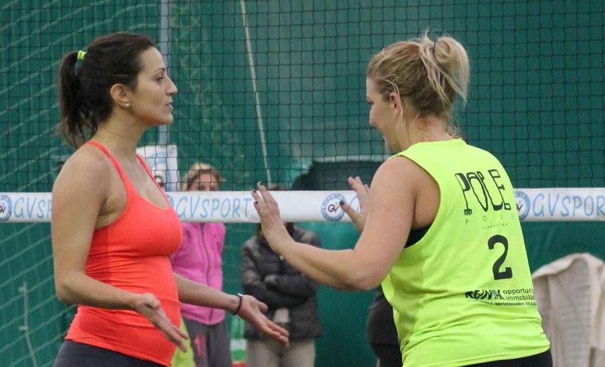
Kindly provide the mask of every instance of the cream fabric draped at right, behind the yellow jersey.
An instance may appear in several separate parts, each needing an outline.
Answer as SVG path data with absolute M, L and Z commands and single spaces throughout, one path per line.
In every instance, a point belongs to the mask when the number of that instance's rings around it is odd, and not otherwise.
M 605 264 L 575 253 L 532 274 L 554 367 L 605 367 Z

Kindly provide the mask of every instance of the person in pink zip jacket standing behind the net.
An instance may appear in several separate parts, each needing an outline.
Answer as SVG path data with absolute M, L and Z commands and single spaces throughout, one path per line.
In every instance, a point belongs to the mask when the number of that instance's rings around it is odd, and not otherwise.
M 221 174 L 209 164 L 189 168 L 183 189 L 216 191 Z M 172 256 L 172 270 L 192 281 L 220 290 L 223 287 L 225 227 L 222 223 L 183 222 L 183 242 Z M 181 304 L 196 367 L 231 367 L 229 334 L 224 310 Z

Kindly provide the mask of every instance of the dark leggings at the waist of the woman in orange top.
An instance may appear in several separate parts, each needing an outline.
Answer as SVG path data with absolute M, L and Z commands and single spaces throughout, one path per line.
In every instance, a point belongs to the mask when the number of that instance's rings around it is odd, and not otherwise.
M 155 362 L 126 356 L 99 346 L 65 340 L 54 367 L 161 367 Z

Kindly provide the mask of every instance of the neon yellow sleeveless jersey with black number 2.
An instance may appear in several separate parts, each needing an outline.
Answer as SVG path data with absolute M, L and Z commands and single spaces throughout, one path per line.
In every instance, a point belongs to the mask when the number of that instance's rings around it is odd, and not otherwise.
M 439 184 L 428 232 L 382 282 L 404 366 L 462 366 L 546 351 L 512 184 L 489 152 L 460 139 L 417 143 Z

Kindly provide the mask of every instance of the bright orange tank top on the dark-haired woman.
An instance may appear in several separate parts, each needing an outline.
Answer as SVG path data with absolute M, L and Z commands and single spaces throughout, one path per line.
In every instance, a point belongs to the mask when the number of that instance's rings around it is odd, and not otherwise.
M 86 274 L 126 291 L 154 294 L 171 322 L 180 325 L 177 286 L 168 259 L 183 236 L 177 214 L 170 205 L 168 209 L 160 209 L 145 200 L 104 146 L 96 141 L 87 144 L 111 158 L 126 187 L 127 199 L 124 211 L 115 221 L 94 231 Z M 153 180 L 142 158 L 137 158 Z M 163 191 L 162 194 L 168 203 Z M 77 308 L 65 339 L 166 366 L 170 365 L 176 348 L 142 314 L 89 306 Z

